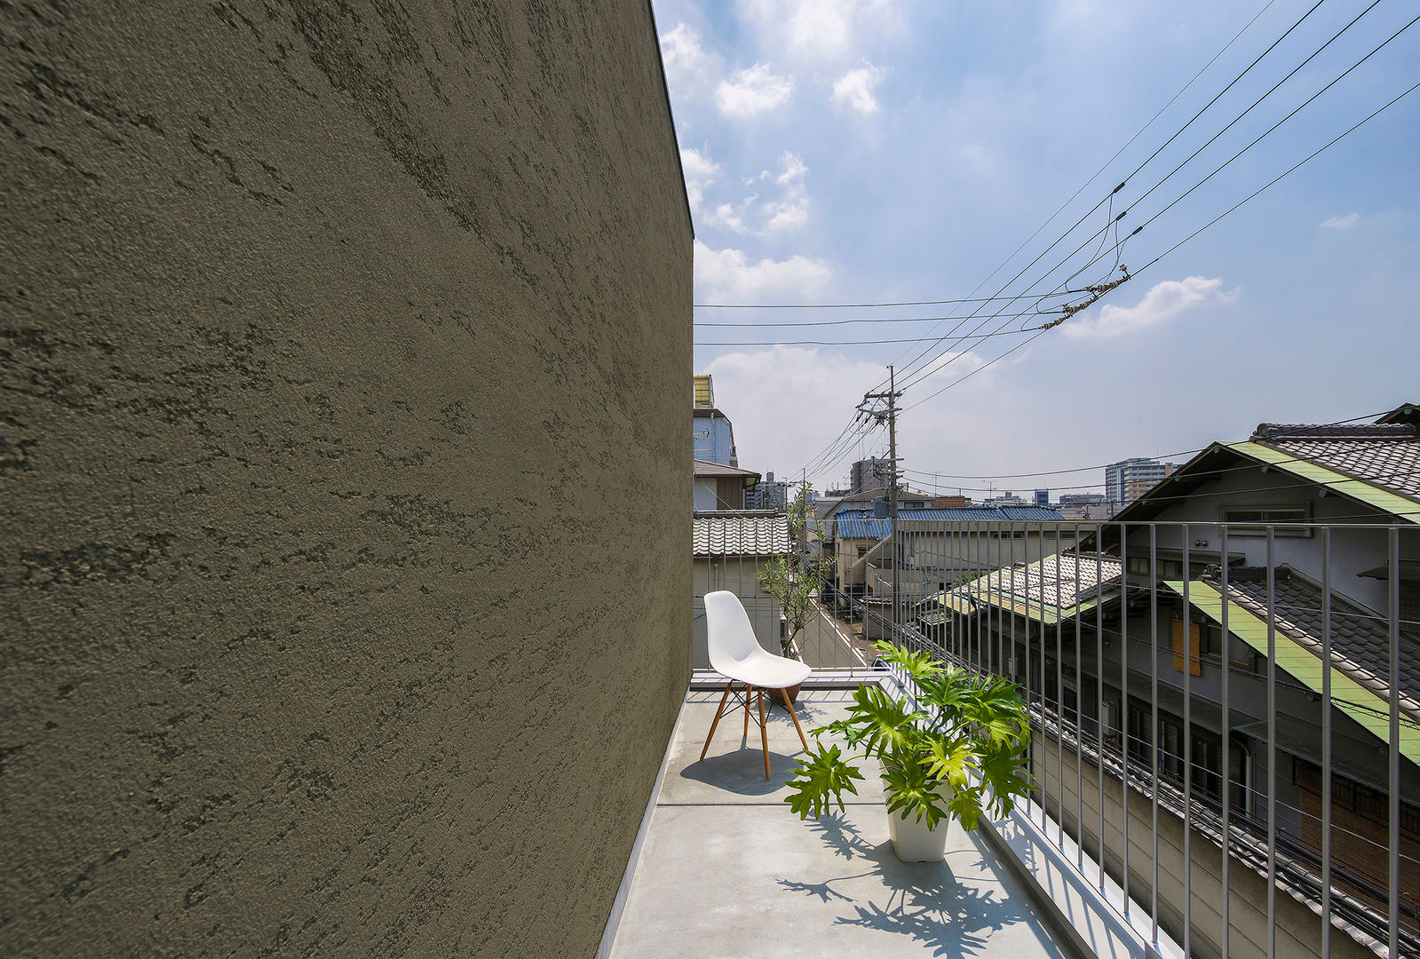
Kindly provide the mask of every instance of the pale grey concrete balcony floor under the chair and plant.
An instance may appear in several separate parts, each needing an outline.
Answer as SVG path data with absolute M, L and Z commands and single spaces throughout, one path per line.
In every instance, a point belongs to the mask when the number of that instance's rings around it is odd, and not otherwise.
M 849 699 L 805 690 L 805 732 Z M 719 700 L 692 690 L 682 708 L 613 959 L 1075 955 L 980 833 L 953 825 L 944 862 L 899 862 L 875 777 L 845 813 L 799 821 L 784 781 L 802 747 L 782 706 L 768 720 L 770 780 L 738 710 L 697 762 Z

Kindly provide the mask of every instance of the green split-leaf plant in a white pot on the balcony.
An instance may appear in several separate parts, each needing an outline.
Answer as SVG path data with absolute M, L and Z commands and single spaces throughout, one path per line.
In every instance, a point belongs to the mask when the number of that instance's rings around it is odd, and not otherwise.
M 912 678 L 916 708 L 876 683 L 859 686 L 846 719 L 811 732 L 815 739 L 842 736 L 849 752 L 816 743 L 794 769 L 785 801 L 799 818 L 818 818 L 832 801 L 842 810 L 843 793 L 858 794 L 861 764 L 878 760 L 897 858 L 940 861 L 951 820 L 974 830 L 984 813 L 1007 816 L 1031 789 L 1025 705 L 1008 679 L 943 665 L 890 642 L 876 645 Z

